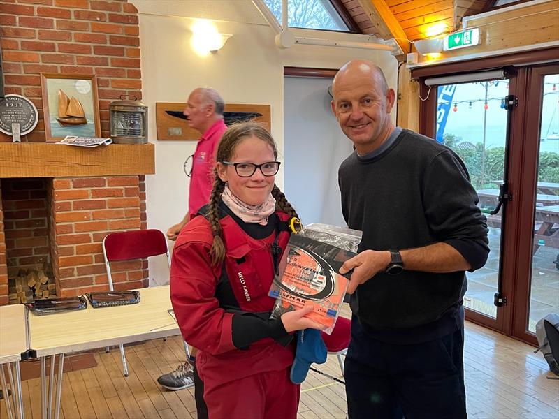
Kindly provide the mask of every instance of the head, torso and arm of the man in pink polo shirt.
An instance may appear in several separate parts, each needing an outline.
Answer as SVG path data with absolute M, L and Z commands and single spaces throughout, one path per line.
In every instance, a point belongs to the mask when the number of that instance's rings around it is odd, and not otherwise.
M 190 188 L 188 212 L 180 223 L 167 230 L 167 237 L 176 240 L 180 230 L 190 221 L 191 216 L 208 203 L 214 182 L 215 153 L 227 126 L 223 120 L 224 101 L 217 90 L 211 87 L 198 87 L 188 96 L 187 107 L 182 112 L 188 117 L 190 128 L 202 136 L 191 157 L 192 170 L 189 173 Z

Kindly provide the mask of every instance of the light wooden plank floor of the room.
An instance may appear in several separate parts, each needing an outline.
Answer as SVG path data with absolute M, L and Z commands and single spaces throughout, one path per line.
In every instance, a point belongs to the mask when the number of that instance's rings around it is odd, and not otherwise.
M 467 323 L 464 354 L 469 418 L 559 418 L 559 380 L 546 379 L 547 364 L 531 346 Z M 157 384 L 182 360 L 179 337 L 126 346 L 130 376 L 122 376 L 118 348 L 94 353 L 97 366 L 64 374 L 61 418 L 196 418 L 194 391 L 166 391 Z M 323 372 L 340 377 L 335 356 Z M 340 377 L 341 378 L 341 377 Z M 344 386 L 310 372 L 303 383 L 299 418 L 345 418 Z M 23 381 L 26 418 L 40 418 L 39 378 Z M 7 418 L 0 402 L 0 417 Z M 225 418 L 224 418 L 225 419 Z

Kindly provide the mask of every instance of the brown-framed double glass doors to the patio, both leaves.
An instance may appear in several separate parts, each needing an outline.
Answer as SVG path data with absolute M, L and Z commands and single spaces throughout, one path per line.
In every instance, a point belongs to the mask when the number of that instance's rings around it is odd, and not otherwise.
M 470 66 L 480 78 L 482 64 Z M 466 273 L 467 318 L 536 344 L 537 321 L 559 311 L 559 63 L 504 71 L 436 94 L 423 79 L 420 132 L 463 159 L 488 219 L 488 261 Z

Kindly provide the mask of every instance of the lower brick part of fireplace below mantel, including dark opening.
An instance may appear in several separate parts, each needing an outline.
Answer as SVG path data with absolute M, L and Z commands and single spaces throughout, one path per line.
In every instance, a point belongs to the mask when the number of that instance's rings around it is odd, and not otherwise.
M 145 228 L 144 185 L 138 176 L 2 179 L 3 283 L 47 261 L 59 297 L 106 291 L 101 242 L 111 231 Z M 145 261 L 112 269 L 115 289 L 147 286 Z M 6 304 L 6 295 L 0 293 L 0 302 Z

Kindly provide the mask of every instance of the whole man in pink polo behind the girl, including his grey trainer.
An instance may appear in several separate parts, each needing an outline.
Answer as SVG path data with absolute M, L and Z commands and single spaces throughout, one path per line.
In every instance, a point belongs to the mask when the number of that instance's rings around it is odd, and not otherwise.
M 214 182 L 215 154 L 217 145 L 222 139 L 227 126 L 223 119 L 224 101 L 217 90 L 211 87 L 198 87 L 188 97 L 187 107 L 182 112 L 188 117 L 191 128 L 199 131 L 202 136 L 196 145 L 196 151 L 189 157 L 193 159 L 190 177 L 190 188 L 188 197 L 188 212 L 180 223 L 175 224 L 167 230 L 167 237 L 176 240 L 180 230 L 190 221 L 196 212 L 208 203 Z M 168 390 L 181 390 L 194 385 L 194 365 L 198 350 L 191 348 L 189 360 L 181 364 L 175 371 L 164 374 L 157 378 L 157 382 Z M 201 381 L 197 382 L 201 384 Z M 205 406 L 203 404 L 203 388 L 196 385 L 196 406 L 198 418 L 204 418 Z

